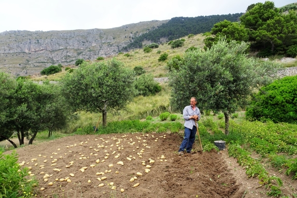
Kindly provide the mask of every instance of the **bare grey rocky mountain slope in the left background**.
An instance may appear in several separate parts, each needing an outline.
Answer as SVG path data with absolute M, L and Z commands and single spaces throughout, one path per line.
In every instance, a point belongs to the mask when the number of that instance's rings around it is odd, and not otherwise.
M 50 65 L 71 65 L 79 58 L 112 56 L 134 37 L 164 21 L 147 21 L 111 29 L 69 31 L 6 31 L 0 33 L 0 71 L 14 76 L 40 73 Z

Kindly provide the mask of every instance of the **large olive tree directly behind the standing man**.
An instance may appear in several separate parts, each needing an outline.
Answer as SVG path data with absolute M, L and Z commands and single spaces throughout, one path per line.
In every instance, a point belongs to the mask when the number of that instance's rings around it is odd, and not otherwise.
M 224 113 L 228 134 L 229 115 L 245 104 L 252 87 L 269 82 L 276 72 L 273 63 L 247 58 L 247 48 L 245 42 L 221 39 L 207 51 L 186 52 L 179 69 L 169 72 L 172 108 L 182 111 L 195 96 L 202 111 Z

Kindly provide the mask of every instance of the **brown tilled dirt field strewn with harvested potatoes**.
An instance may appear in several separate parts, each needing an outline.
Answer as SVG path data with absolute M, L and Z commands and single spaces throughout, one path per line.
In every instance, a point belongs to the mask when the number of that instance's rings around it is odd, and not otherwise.
M 75 135 L 18 148 L 16 152 L 18 162 L 31 166 L 39 181 L 37 198 L 268 198 L 264 187 L 257 188 L 258 179 L 248 179 L 245 169 L 236 159 L 229 158 L 226 150 L 177 155 L 182 135 Z M 196 148 L 199 150 L 200 146 L 195 145 Z M 117 164 L 119 161 L 123 165 Z M 90 167 L 91 164 L 95 167 Z M 151 166 L 148 173 L 147 165 Z M 87 167 L 85 172 L 80 170 L 83 167 Z M 48 181 L 44 181 L 45 174 L 50 175 Z M 66 177 L 71 183 L 56 181 Z M 137 179 L 130 182 L 132 177 Z M 49 182 L 53 185 L 49 186 Z M 133 187 L 136 183 L 139 186 Z M 291 192 L 292 189 L 296 192 L 296 181 L 290 185 Z M 121 189 L 125 191 L 121 193 Z

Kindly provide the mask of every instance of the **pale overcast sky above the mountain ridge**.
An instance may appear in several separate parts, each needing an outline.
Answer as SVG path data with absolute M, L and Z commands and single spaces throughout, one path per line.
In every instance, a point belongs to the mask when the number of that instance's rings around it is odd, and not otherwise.
M 108 29 L 141 21 L 245 12 L 265 0 L 0 0 L 0 32 Z M 297 0 L 274 0 L 282 7 Z

